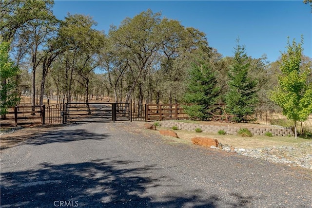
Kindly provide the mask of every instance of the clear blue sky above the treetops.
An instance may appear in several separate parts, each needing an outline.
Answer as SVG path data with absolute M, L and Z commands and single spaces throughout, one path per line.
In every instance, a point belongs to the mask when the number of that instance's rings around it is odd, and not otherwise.
M 312 57 L 311 7 L 302 0 L 293 1 L 104 1 L 55 0 L 54 14 L 64 19 L 67 13 L 83 14 L 98 22 L 96 29 L 108 33 L 126 17 L 133 18 L 151 9 L 163 17 L 176 19 L 185 27 L 194 27 L 207 36 L 209 45 L 224 57 L 233 56 L 236 38 L 249 56 L 266 54 L 270 62 L 286 51 L 287 37 L 300 42 L 304 54 Z

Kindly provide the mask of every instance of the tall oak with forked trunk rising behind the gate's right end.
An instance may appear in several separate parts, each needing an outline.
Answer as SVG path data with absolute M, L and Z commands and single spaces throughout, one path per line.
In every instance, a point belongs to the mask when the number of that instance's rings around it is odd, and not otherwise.
M 159 26 L 160 15 L 160 13 L 154 14 L 149 9 L 133 19 L 124 19 L 119 28 L 113 26 L 110 29 L 109 38 L 114 41 L 117 50 L 122 51 L 128 60 L 129 68 L 126 74 L 131 83 L 129 83 L 126 102 L 129 101 L 136 87 L 140 92 L 139 104 L 143 102 L 143 83 L 146 81 L 146 76 L 154 64 L 162 43 Z

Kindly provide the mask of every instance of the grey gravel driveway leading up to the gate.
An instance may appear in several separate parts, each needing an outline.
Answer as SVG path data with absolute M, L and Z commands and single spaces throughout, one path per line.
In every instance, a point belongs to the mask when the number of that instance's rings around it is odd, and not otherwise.
M 311 208 L 312 171 L 88 123 L 1 151 L 1 208 Z

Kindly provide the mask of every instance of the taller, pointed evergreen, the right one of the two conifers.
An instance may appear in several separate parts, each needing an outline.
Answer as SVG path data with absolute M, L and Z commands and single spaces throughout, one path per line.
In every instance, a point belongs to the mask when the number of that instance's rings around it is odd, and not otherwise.
M 227 111 L 234 115 L 233 120 L 242 122 L 248 121 L 248 116 L 255 111 L 258 102 L 255 89 L 257 83 L 248 76 L 250 59 L 245 53 L 245 47 L 238 44 L 234 49 L 234 60 L 228 73 L 229 91 L 225 95 L 225 102 Z

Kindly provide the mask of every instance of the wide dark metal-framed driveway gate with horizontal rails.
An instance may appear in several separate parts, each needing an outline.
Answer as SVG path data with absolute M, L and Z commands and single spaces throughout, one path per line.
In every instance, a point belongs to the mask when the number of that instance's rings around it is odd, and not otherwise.
M 129 103 L 66 103 L 65 123 L 130 120 Z

